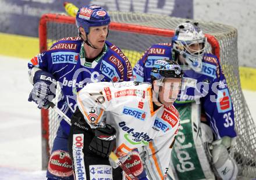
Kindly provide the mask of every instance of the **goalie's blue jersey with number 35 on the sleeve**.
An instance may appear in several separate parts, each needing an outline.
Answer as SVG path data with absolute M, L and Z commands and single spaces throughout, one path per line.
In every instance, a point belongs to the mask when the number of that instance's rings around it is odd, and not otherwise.
M 172 60 L 172 45 L 155 44 L 148 48 L 134 66 L 136 81 L 150 82 L 150 72 L 157 59 Z M 201 103 L 216 139 L 236 136 L 232 100 L 225 75 L 215 55 L 204 54 L 200 72 L 192 69 L 184 72 L 182 90 L 174 105 L 184 106 L 191 102 Z

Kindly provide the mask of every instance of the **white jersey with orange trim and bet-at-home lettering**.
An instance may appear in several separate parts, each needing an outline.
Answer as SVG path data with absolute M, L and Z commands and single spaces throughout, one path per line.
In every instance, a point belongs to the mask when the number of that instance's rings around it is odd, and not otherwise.
M 150 84 L 91 83 L 79 91 L 77 102 L 91 128 L 110 124 L 116 129 L 114 152 L 119 157 L 142 148 L 145 156 L 141 159 L 148 177 L 163 179 L 167 175 L 179 113 L 174 106 L 154 111 Z

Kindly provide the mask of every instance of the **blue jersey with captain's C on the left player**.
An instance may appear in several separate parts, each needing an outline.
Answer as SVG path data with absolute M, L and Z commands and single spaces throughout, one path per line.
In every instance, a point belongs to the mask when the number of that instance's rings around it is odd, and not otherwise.
M 76 92 L 87 83 L 99 81 L 130 81 L 133 77 L 131 64 L 122 51 L 106 41 L 102 53 L 87 62 L 83 40 L 80 37 L 62 38 L 52 47 L 31 59 L 29 69 L 38 67 L 55 76 L 62 89 L 58 107 L 71 117 L 76 110 Z M 61 121 L 69 134 L 70 126 Z

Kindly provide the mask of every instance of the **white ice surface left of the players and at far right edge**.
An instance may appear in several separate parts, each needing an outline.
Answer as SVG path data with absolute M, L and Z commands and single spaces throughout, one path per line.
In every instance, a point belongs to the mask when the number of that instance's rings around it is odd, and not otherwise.
M 0 179 L 45 178 L 41 171 L 40 110 L 27 101 L 28 59 L 0 56 Z M 254 120 L 256 92 L 244 91 Z

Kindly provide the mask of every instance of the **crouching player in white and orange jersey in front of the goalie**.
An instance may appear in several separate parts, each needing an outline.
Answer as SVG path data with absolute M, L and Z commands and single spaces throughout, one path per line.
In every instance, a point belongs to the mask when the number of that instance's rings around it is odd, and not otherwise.
M 182 77 L 179 64 L 157 60 L 151 71 L 152 86 L 136 81 L 97 82 L 81 89 L 69 135 L 75 177 L 113 179 L 113 162 L 108 159 L 113 151 L 139 179 L 166 178 L 179 128 L 173 102 Z M 137 148 L 143 149 L 143 157 L 137 155 Z M 127 154 L 131 154 L 128 159 Z

